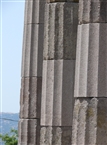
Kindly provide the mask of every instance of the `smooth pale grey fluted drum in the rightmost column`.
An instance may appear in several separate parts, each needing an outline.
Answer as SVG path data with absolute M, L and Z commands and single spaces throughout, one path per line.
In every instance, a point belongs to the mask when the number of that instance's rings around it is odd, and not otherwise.
M 78 28 L 75 97 L 107 97 L 107 23 Z

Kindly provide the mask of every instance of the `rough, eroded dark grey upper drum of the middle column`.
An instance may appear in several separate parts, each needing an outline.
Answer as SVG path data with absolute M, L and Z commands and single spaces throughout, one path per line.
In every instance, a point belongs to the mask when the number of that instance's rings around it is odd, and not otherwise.
M 46 4 L 44 59 L 75 59 L 78 24 L 77 3 Z

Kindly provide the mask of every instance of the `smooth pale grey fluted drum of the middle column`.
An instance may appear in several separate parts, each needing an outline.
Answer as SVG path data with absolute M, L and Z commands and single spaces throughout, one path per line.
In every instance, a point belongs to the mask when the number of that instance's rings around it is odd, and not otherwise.
M 71 126 L 75 60 L 44 60 L 41 125 Z

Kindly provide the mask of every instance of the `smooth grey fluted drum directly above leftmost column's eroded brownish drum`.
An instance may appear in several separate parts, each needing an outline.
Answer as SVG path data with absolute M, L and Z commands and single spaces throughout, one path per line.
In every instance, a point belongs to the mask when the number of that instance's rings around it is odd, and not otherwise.
M 42 76 L 43 35 L 43 24 L 24 26 L 22 77 Z

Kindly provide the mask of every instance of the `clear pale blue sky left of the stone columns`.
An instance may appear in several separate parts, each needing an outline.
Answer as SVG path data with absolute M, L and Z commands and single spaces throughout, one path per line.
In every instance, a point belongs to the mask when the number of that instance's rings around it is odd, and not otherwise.
M 20 109 L 24 0 L 0 3 L 0 112 Z

